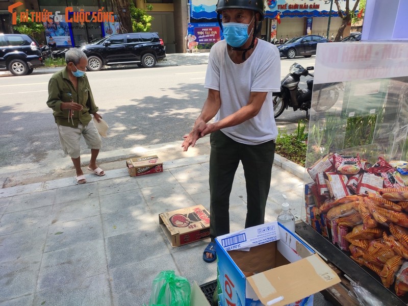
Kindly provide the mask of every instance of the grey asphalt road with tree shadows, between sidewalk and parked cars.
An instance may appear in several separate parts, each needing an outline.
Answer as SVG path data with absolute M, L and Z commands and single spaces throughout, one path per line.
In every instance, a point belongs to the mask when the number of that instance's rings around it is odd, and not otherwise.
M 282 59 L 281 78 L 293 60 Z M 314 65 L 314 57 L 296 62 Z M 116 68 L 87 73 L 99 113 L 108 122 L 104 151 L 180 141 L 191 130 L 207 90 L 207 65 Z M 61 158 L 52 111 L 46 106 L 51 74 L 0 78 L 0 168 Z M 304 111 L 286 110 L 276 123 L 297 125 Z M 88 152 L 82 142 L 82 153 Z M 46 163 L 45 163 L 46 164 Z

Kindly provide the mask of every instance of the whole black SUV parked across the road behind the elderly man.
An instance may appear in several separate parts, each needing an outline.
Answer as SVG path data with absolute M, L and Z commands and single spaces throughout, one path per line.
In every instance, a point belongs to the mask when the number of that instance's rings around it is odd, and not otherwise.
M 84 45 L 81 50 L 88 57 L 90 71 L 122 64 L 151 68 L 166 57 L 163 40 L 157 33 L 115 34 Z

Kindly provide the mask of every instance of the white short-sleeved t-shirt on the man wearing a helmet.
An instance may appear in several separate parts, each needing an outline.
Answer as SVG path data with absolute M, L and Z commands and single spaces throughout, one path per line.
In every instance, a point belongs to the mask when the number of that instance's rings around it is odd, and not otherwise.
M 251 56 L 241 64 L 231 60 L 226 46 L 225 40 L 212 46 L 204 85 L 220 92 L 221 107 L 215 121 L 247 105 L 251 92 L 268 92 L 257 116 L 221 131 L 237 142 L 250 145 L 276 139 L 272 92 L 281 90 L 281 60 L 276 46 L 258 39 Z

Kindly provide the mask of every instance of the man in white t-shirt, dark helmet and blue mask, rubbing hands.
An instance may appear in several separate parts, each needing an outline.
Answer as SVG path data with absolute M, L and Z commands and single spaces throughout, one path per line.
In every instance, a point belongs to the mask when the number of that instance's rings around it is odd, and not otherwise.
M 230 194 L 241 161 L 246 181 L 245 227 L 264 223 L 277 127 L 272 92 L 280 90 L 281 63 L 275 45 L 258 39 L 264 2 L 218 0 L 224 40 L 211 48 L 208 96 L 182 147 L 210 134 L 210 236 L 203 260 L 216 259 L 214 238 L 230 232 Z M 222 16 L 222 19 L 220 19 Z M 222 20 L 222 25 L 220 20 Z M 208 123 L 214 118 L 214 123 Z

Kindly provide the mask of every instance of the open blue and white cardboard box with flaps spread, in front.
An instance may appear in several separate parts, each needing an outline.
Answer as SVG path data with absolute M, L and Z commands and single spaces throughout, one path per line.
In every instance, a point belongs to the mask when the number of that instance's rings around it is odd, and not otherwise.
M 313 305 L 313 294 L 340 283 L 314 251 L 275 222 L 216 238 L 220 305 Z M 250 248 L 248 250 L 248 248 Z

